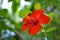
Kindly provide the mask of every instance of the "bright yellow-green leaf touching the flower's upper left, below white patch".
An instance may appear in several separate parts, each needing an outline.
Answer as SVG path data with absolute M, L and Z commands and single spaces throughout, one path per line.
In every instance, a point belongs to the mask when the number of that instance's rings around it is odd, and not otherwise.
M 31 13 L 30 8 L 31 8 L 31 6 L 25 5 L 24 9 L 20 10 L 19 16 L 22 17 L 22 18 L 25 18 L 26 15 Z

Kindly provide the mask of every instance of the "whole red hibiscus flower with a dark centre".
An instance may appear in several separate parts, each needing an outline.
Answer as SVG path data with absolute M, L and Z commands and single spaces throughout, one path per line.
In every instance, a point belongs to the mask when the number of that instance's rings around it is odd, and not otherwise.
M 48 24 L 49 16 L 45 15 L 44 10 L 35 10 L 23 19 L 22 32 L 28 29 L 30 35 L 35 35 L 42 29 L 42 24 Z

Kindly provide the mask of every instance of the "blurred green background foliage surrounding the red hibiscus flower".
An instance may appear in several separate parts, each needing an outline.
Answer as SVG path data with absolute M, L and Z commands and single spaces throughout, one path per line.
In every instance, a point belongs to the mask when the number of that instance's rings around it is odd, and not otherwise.
M 21 32 L 24 15 L 44 9 L 51 21 L 35 36 Z M 0 0 L 0 40 L 60 40 L 60 0 Z

